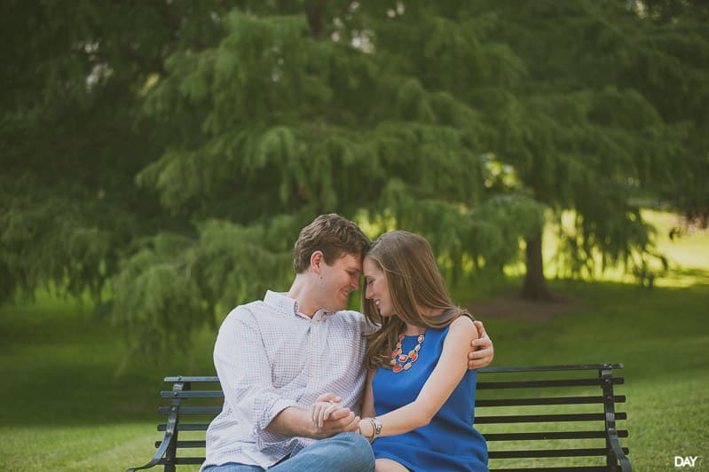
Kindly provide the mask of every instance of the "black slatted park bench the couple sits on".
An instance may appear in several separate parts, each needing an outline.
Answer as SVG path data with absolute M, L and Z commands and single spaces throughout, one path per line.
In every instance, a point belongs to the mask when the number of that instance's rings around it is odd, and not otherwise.
M 614 386 L 624 383 L 613 371 L 622 364 L 487 367 L 478 371 L 476 428 L 488 443 L 491 470 L 632 470 L 620 437 L 617 412 L 625 403 Z M 172 389 L 159 412 L 164 437 L 146 465 L 166 471 L 204 460 L 205 430 L 221 412 L 217 377 L 166 377 Z M 178 438 L 179 437 L 179 438 Z

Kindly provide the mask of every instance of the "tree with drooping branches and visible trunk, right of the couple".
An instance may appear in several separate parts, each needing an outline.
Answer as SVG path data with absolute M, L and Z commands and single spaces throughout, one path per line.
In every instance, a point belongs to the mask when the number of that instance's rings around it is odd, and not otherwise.
M 562 233 L 571 273 L 593 274 L 598 255 L 602 267 L 624 264 L 650 283 L 650 260 L 664 258 L 638 197 L 658 195 L 653 184 L 678 165 L 685 133 L 658 111 L 639 77 L 643 57 L 670 54 L 656 43 L 661 30 L 633 2 L 487 2 L 484 10 L 498 20 L 494 40 L 508 44 L 525 70 L 506 90 L 514 98 L 488 96 L 507 112 L 495 115 L 499 159 L 557 216 L 574 210 L 574 228 Z M 538 231 L 526 240 L 527 298 L 550 297 L 541 248 Z

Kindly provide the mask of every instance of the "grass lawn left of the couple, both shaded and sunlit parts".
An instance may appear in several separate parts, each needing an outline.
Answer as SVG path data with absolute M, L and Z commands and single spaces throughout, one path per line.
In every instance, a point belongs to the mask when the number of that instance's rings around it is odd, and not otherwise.
M 0 470 L 124 470 L 146 462 L 165 374 L 213 374 L 213 334 L 188 356 L 141 359 L 115 377 L 124 345 L 110 320 L 44 297 L 0 311 Z M 138 366 L 139 364 L 139 366 Z

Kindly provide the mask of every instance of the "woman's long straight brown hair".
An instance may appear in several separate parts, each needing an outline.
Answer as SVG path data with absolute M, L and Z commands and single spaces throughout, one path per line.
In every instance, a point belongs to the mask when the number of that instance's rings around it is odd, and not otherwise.
M 382 317 L 372 300 L 362 290 L 362 312 L 381 329 L 366 336 L 365 366 L 390 367 L 390 353 L 398 334 L 406 324 L 426 328 L 448 326 L 461 315 L 470 318 L 469 311 L 453 304 L 438 270 L 429 241 L 406 231 L 385 232 L 372 243 L 365 257 L 377 264 L 387 278 L 391 303 L 396 316 Z M 440 311 L 437 317 L 425 316 L 424 311 Z

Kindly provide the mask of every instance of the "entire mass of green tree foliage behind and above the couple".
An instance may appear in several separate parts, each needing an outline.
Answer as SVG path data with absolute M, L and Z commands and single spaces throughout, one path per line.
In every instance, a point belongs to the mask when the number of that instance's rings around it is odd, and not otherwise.
M 548 209 L 572 209 L 570 273 L 599 254 L 646 284 L 657 255 L 634 197 L 705 215 L 699 2 L 0 13 L 0 301 L 43 284 L 98 299 L 111 280 L 136 350 L 284 287 L 320 213 L 421 232 L 458 280 L 500 277 Z

